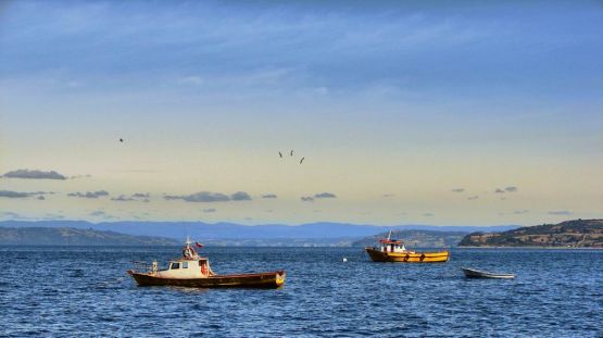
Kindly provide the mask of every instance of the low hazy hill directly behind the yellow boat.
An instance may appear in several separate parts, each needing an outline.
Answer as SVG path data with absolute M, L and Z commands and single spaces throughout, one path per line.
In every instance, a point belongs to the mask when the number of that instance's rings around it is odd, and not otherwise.
M 404 241 L 406 248 L 449 248 L 456 245 L 467 235 L 466 231 L 435 231 L 435 230 L 395 230 L 391 238 Z M 372 247 L 379 238 L 386 238 L 388 233 L 369 236 L 352 242 L 353 247 Z

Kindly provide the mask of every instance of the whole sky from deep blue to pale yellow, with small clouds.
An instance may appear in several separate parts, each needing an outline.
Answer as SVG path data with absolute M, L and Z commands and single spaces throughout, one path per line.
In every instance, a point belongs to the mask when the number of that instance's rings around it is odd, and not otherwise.
M 601 60 L 600 1 L 2 1 L 0 220 L 603 217 Z

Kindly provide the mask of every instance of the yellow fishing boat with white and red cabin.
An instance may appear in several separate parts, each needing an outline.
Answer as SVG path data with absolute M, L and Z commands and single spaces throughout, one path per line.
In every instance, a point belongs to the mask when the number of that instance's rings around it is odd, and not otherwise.
M 373 262 L 443 263 L 450 258 L 450 253 L 445 250 L 439 252 L 406 250 L 402 240 L 391 238 L 391 231 L 388 238 L 379 240 L 379 248 L 367 247 L 365 250 Z

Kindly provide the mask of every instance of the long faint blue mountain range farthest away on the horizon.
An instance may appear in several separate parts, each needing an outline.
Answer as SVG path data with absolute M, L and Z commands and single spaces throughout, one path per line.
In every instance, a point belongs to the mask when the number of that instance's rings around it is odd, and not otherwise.
M 187 235 L 202 241 L 206 240 L 242 240 L 242 239 L 330 239 L 339 242 L 342 238 L 361 239 L 389 230 L 435 230 L 435 231 L 503 231 L 517 228 L 516 225 L 501 226 L 434 226 L 434 225 L 397 225 L 375 226 L 347 223 L 307 223 L 302 225 L 241 225 L 235 223 L 202 222 L 106 222 L 89 223 L 85 221 L 4 221 L 1 226 L 8 227 L 72 227 L 79 229 L 111 230 L 129 235 L 160 236 L 183 240 Z

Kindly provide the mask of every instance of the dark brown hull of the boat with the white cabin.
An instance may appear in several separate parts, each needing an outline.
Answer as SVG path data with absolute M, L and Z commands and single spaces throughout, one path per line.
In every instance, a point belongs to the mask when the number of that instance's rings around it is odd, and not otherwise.
M 217 275 L 206 278 L 165 278 L 150 273 L 128 271 L 138 286 L 179 286 L 191 288 L 278 288 L 285 284 L 285 272 L 241 275 Z

